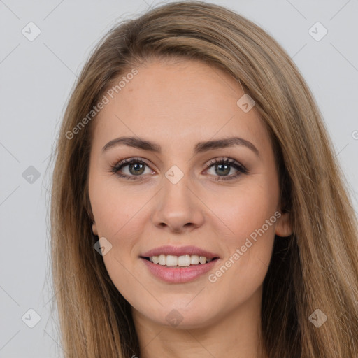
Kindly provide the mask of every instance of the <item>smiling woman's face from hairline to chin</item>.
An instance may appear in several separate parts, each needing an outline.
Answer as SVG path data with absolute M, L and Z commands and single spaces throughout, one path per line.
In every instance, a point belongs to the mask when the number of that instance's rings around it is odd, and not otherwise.
M 274 236 L 290 234 L 271 141 L 227 73 L 192 61 L 137 70 L 93 123 L 92 228 L 135 317 L 204 327 L 260 303 Z

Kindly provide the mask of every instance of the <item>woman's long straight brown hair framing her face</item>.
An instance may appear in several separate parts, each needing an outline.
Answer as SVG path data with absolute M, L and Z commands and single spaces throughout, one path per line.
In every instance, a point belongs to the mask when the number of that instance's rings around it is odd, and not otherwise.
M 96 116 L 88 114 L 115 80 L 152 58 L 195 59 L 227 71 L 254 99 L 271 133 L 293 234 L 275 238 L 264 280 L 266 355 L 357 358 L 357 217 L 322 115 L 271 36 L 245 17 L 201 1 L 157 6 L 111 29 L 67 104 L 51 202 L 53 287 L 66 357 L 140 356 L 131 307 L 93 248 L 98 238 L 87 179 Z M 327 316 L 319 328 L 309 320 L 317 309 Z

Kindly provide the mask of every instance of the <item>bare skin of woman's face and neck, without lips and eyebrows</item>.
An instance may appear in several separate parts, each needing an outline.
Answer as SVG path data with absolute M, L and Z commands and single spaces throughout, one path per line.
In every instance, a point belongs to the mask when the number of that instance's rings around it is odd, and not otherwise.
M 141 358 L 264 357 L 258 350 L 262 283 L 275 234 L 288 236 L 292 230 L 287 213 L 274 216 L 280 213 L 279 185 L 268 131 L 255 106 L 248 113 L 238 107 L 241 96 L 240 84 L 216 68 L 158 60 L 138 67 L 96 118 L 90 157 L 92 229 L 112 245 L 103 260 L 132 306 L 141 345 L 134 355 Z M 153 141 L 162 152 L 123 144 L 103 152 L 106 143 L 121 136 Z M 196 143 L 231 136 L 250 141 L 258 154 L 246 145 L 232 145 L 194 155 Z M 247 172 L 211 162 L 227 157 Z M 137 171 L 122 166 L 120 173 L 134 180 L 110 171 L 131 158 L 146 163 L 140 174 L 141 163 Z M 174 165 L 183 174 L 176 184 L 165 176 Z M 264 226 L 272 217 L 274 222 Z M 264 234 L 251 239 L 243 252 L 247 238 L 260 228 Z M 152 275 L 141 259 L 162 245 L 194 245 L 220 259 L 192 282 L 168 283 Z M 242 255 L 233 259 L 237 249 Z M 227 271 L 215 275 L 230 258 Z M 174 326 L 168 317 L 177 311 L 181 318 Z

